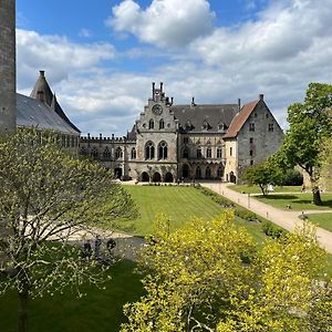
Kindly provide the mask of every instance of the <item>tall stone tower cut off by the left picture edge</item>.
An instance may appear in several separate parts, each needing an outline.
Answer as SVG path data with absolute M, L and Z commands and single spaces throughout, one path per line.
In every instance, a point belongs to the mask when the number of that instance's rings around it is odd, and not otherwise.
M 15 0 L 0 6 L 0 135 L 17 128 Z

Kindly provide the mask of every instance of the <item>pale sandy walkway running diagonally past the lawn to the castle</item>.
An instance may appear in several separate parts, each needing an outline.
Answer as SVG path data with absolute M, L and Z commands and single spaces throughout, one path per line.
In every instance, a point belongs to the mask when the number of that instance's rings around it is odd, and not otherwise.
M 207 187 L 215 193 L 218 193 L 232 201 L 241 205 L 242 207 L 253 211 L 255 214 L 264 217 L 289 231 L 294 231 L 297 226 L 302 226 L 303 221 L 299 218 L 300 211 L 286 211 L 274 208 L 270 205 L 257 200 L 255 197 L 248 197 L 247 194 L 240 194 L 227 188 L 229 184 L 222 183 L 201 183 L 201 186 Z M 308 214 L 324 214 L 332 212 L 332 210 L 305 210 Z M 305 222 L 305 221 L 304 221 Z M 332 232 L 322 228 L 318 228 L 317 237 L 322 248 L 332 253 Z

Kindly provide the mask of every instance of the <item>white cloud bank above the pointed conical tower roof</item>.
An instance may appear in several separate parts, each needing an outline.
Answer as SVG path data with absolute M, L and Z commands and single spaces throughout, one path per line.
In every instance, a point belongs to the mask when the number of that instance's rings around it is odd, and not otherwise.
M 20 29 L 17 30 L 17 46 L 19 89 L 31 86 L 39 70 L 45 70 L 56 83 L 72 71 L 90 70 L 116 55 L 114 46 L 107 43 L 77 44 L 65 37 Z

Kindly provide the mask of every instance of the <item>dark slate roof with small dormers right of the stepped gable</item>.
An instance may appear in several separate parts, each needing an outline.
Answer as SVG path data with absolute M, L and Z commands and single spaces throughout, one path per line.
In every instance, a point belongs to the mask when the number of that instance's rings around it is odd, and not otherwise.
M 179 121 L 181 132 L 201 133 L 204 124 L 207 123 L 209 127 L 206 132 L 210 133 L 220 132 L 219 124 L 224 124 L 228 128 L 238 112 L 238 105 L 173 105 L 170 111 Z M 189 123 L 191 128 L 188 128 Z

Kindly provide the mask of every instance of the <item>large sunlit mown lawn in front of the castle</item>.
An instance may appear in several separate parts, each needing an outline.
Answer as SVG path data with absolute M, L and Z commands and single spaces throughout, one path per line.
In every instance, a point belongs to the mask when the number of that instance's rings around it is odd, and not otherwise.
M 174 230 L 190 218 L 211 219 L 221 211 L 216 203 L 193 187 L 126 186 L 125 188 L 139 207 L 138 219 L 118 222 L 120 229 L 131 234 L 151 234 L 152 224 L 159 214 L 167 215 Z

